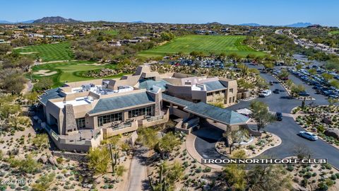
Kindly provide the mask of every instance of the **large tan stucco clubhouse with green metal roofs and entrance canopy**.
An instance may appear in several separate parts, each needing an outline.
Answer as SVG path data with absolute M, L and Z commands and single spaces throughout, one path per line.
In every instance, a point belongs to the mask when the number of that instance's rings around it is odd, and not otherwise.
M 181 120 L 177 129 L 191 132 L 201 118 L 227 127 L 244 125 L 247 117 L 210 103 L 232 105 L 237 81 L 188 74 L 159 74 L 148 64 L 121 79 L 66 83 L 40 96 L 42 127 L 61 150 L 88 151 L 102 139 L 163 125 L 169 115 Z

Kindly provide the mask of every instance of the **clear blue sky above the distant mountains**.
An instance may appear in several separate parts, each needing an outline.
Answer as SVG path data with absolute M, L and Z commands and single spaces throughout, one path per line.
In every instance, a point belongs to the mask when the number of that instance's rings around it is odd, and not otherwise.
M 338 0 L 5 0 L 0 20 L 27 21 L 62 16 L 81 21 L 152 23 L 297 22 L 339 26 Z

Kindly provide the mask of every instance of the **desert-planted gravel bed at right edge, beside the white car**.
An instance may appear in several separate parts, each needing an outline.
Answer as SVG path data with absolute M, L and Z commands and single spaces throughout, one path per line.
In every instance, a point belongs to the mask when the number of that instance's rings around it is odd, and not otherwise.
M 302 128 L 339 149 L 339 106 L 321 105 L 294 108 L 293 118 Z

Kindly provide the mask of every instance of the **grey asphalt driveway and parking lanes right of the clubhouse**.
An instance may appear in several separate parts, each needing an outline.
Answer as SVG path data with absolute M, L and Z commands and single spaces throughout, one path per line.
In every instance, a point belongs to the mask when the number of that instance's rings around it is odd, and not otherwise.
M 266 79 L 266 81 L 277 81 L 270 74 L 261 74 L 261 76 Z M 306 103 L 309 104 L 311 102 L 317 105 L 328 104 L 326 97 L 316 94 L 315 91 L 304 84 L 303 81 L 297 79 L 297 77 L 290 75 L 290 79 L 294 81 L 296 84 L 303 84 L 307 88 L 307 92 L 314 96 L 316 100 L 307 100 Z M 271 90 L 275 88 L 284 90 L 283 86 L 280 83 L 274 83 L 273 86 L 270 86 Z M 272 93 L 271 96 L 267 98 L 256 98 L 256 100 L 263 101 L 269 105 L 269 108 L 273 112 L 283 112 L 290 113 L 292 108 L 297 107 L 302 104 L 302 100 L 287 100 L 284 98 L 287 96 L 286 92 L 280 92 L 278 94 Z M 249 108 L 249 101 L 240 101 L 237 105 L 232 105 L 230 110 L 238 110 L 239 108 Z M 202 125 L 203 126 L 203 125 Z M 311 156 L 316 158 L 328 158 L 328 162 L 333 166 L 339 168 L 339 149 L 327 144 L 325 141 L 319 139 L 318 141 L 309 141 L 307 139 L 303 139 L 302 137 L 297 136 L 297 132 L 301 131 L 302 127 L 297 125 L 295 120 L 292 117 L 285 116 L 283 121 L 273 122 L 266 127 L 266 131 L 272 132 L 273 134 L 277 134 L 282 139 L 282 144 L 280 146 L 274 147 L 273 149 L 269 149 L 265 151 L 261 155 L 272 156 L 272 157 L 287 157 L 294 155 L 293 152 L 296 146 L 303 146 L 306 149 L 311 151 Z M 203 157 L 222 157 L 215 151 L 215 142 L 217 139 L 222 137 L 222 130 L 218 128 L 210 128 L 204 127 L 194 132 L 196 134 L 196 150 Z

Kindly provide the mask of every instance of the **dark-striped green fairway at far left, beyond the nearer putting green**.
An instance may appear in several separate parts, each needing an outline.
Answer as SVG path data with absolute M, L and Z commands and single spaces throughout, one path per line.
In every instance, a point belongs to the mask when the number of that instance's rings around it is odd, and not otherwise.
M 35 45 L 23 47 L 14 51 L 23 54 L 26 53 L 25 55 L 32 56 L 33 58 L 40 57 L 42 62 L 73 59 L 73 52 L 69 42 Z

